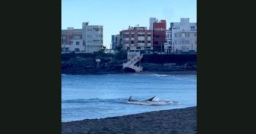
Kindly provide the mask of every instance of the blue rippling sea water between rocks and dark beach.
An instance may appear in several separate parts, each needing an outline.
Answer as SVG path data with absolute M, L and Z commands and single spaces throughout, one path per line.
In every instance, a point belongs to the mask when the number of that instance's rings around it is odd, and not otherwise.
M 196 106 L 196 75 L 115 74 L 62 75 L 61 121 L 115 117 Z M 157 96 L 178 104 L 128 104 L 128 97 Z

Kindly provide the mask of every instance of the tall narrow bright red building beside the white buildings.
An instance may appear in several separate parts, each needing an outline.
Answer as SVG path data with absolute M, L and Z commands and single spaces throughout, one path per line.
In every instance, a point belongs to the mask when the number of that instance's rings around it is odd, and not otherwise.
M 163 52 L 166 43 L 166 20 L 160 20 L 153 24 L 154 51 Z

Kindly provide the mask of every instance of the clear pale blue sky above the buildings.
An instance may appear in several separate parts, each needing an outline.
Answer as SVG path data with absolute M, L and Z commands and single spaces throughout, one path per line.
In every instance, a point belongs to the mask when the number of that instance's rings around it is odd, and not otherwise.
M 61 29 L 82 29 L 82 22 L 103 25 L 103 45 L 110 49 L 111 35 L 129 26 L 150 27 L 150 17 L 179 22 L 181 17 L 196 22 L 196 0 L 61 0 Z

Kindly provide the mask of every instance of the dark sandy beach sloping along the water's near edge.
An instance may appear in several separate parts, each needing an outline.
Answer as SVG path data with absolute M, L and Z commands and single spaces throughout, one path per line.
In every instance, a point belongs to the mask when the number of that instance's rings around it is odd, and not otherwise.
M 108 117 L 94 120 L 62 122 L 62 134 L 188 134 L 197 133 L 196 106 Z

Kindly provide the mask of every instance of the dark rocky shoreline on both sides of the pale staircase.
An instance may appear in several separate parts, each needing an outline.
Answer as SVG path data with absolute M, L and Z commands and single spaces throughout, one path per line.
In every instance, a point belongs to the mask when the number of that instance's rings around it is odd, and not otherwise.
M 117 55 L 117 56 L 116 56 Z M 66 75 L 101 75 L 125 73 L 123 63 L 127 62 L 125 54 L 63 54 L 61 57 L 61 73 Z M 96 58 L 101 59 L 98 67 Z M 196 71 L 195 62 L 177 63 L 149 63 L 141 61 L 146 72 L 187 72 Z

